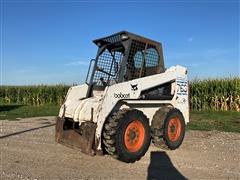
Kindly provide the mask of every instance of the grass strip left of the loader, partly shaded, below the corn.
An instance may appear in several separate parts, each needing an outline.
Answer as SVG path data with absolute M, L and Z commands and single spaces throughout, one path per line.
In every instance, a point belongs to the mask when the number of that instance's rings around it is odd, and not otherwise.
M 57 116 L 60 106 L 46 104 L 43 106 L 27 105 L 0 105 L 0 120 L 17 118 L 38 117 L 38 116 Z

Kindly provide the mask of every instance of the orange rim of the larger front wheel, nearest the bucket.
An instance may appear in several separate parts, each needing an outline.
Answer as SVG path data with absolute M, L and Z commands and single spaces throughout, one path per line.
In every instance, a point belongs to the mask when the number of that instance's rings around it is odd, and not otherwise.
M 124 132 L 124 145 L 129 152 L 137 152 L 143 145 L 145 130 L 143 124 L 134 120 Z

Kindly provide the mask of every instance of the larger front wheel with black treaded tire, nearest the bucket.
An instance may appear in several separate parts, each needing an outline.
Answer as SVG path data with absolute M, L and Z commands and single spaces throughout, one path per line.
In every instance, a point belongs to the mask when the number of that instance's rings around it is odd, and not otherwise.
M 141 130 L 144 129 L 144 133 L 139 133 L 133 129 L 129 130 L 129 127 L 133 124 L 139 124 Z M 128 131 L 130 133 L 126 135 Z M 133 132 L 133 133 L 132 133 Z M 144 134 L 144 135 L 141 135 Z M 127 136 L 127 138 L 126 138 Z M 139 138 L 144 137 L 144 138 Z M 130 138 L 131 142 L 130 142 Z M 141 140 L 139 140 L 141 139 Z M 133 151 L 126 146 L 126 140 L 128 143 L 140 142 L 140 146 L 136 151 Z M 134 142 L 133 142 L 134 141 Z M 136 109 L 123 109 L 118 112 L 113 113 L 113 115 L 108 118 L 105 122 L 103 129 L 103 145 L 106 152 L 112 155 L 115 159 L 123 162 L 133 163 L 138 161 L 148 150 L 151 143 L 151 133 L 149 127 L 149 120 L 143 114 L 143 112 Z M 137 143 L 135 143 L 137 144 Z M 139 144 L 138 144 L 139 145 Z

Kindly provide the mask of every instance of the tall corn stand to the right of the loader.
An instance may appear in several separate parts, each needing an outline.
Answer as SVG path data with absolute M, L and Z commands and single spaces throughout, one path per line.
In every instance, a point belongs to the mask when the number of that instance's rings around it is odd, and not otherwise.
M 192 110 L 240 111 L 240 78 L 194 80 L 190 83 Z

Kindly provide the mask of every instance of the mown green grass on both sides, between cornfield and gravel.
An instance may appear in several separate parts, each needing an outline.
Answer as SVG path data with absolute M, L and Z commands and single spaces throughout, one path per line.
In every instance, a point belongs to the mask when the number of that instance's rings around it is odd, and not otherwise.
M 26 105 L 0 105 L 0 120 L 37 116 L 57 116 L 58 105 L 47 104 L 43 106 Z M 240 112 L 231 111 L 192 111 L 187 130 L 219 130 L 240 133 Z

